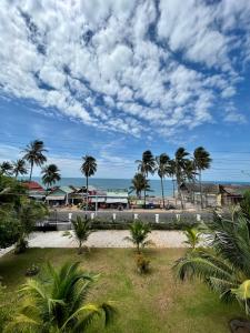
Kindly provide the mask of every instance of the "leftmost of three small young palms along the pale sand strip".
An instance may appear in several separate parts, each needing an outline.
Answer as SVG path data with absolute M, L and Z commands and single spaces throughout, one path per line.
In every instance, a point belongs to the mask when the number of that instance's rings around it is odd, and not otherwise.
M 92 232 L 91 221 L 89 219 L 87 220 L 82 219 L 81 216 L 78 215 L 76 220 L 72 220 L 72 224 L 73 224 L 74 238 L 77 239 L 79 244 L 78 253 L 81 254 L 82 243 L 88 240 L 89 235 Z

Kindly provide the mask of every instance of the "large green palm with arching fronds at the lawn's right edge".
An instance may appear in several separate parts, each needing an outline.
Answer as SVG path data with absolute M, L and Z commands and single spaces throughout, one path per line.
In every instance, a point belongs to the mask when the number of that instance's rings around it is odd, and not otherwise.
M 198 278 L 223 301 L 238 300 L 250 314 L 250 221 L 237 212 L 231 219 L 214 214 L 207 224 L 211 248 L 188 251 L 174 264 L 181 280 Z

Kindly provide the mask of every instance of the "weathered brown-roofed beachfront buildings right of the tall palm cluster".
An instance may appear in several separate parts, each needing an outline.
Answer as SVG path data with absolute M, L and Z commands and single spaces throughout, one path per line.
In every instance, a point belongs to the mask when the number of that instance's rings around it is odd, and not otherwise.
M 180 186 L 181 195 L 184 201 L 200 204 L 200 184 L 182 183 Z M 243 193 L 250 190 L 250 185 L 214 184 L 202 183 L 201 192 L 204 206 L 228 206 L 239 203 Z

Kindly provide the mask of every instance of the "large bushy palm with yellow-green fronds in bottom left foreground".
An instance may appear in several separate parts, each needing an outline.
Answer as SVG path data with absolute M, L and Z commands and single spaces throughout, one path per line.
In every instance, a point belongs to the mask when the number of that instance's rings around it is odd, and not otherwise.
M 11 332 L 87 332 L 94 319 L 108 325 L 112 302 L 86 303 L 98 275 L 86 273 L 79 263 L 66 263 L 59 270 L 48 264 L 49 280 L 28 280 L 21 287 L 22 307 L 8 325 Z

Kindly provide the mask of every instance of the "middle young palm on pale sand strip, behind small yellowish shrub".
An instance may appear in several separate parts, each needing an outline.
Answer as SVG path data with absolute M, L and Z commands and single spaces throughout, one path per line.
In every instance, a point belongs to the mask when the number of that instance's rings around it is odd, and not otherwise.
M 141 253 L 141 248 L 151 245 L 152 242 L 147 240 L 151 228 L 148 223 L 143 223 L 140 220 L 136 220 L 129 225 L 130 236 L 124 238 L 126 241 L 133 243 L 137 246 L 137 252 Z

